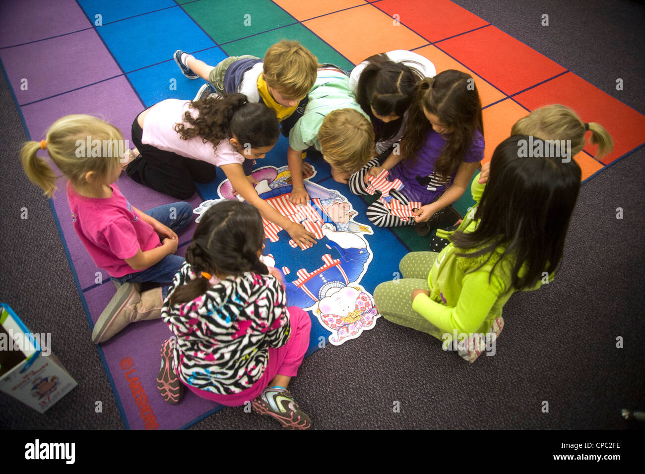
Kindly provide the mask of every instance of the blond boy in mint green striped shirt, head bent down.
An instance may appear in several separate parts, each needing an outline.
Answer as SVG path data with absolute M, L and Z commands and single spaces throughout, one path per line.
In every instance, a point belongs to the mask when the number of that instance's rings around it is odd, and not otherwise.
M 374 155 L 374 131 L 349 86 L 349 78 L 331 64 L 319 68 L 304 114 L 289 132 L 287 161 L 293 181 L 291 202 L 304 204 L 303 151 L 315 148 L 332 166 L 332 177 L 347 183 Z

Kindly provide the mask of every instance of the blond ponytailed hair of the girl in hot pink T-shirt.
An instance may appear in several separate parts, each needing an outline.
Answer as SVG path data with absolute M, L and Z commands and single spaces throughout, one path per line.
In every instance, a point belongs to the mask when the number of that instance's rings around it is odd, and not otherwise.
M 86 184 L 85 175 L 88 172 L 104 177 L 119 166 L 119 153 L 112 153 L 112 148 L 109 153 L 103 153 L 105 147 L 99 147 L 100 152 L 95 150 L 93 153 L 85 148 L 88 140 L 90 144 L 94 144 L 95 140 L 112 144 L 115 140 L 123 140 L 123 135 L 114 125 L 92 115 L 65 115 L 46 132 L 47 152 L 72 184 Z M 52 197 L 57 190 L 58 177 L 52 166 L 36 155 L 40 149 L 40 142 L 25 142 L 20 150 L 20 160 L 29 181 L 40 186 L 47 197 Z M 104 154 L 115 156 L 104 157 Z

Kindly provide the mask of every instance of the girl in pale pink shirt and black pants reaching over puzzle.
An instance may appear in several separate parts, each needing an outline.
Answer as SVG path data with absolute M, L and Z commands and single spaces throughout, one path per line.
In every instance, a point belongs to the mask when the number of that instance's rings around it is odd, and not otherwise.
M 264 158 L 275 145 L 279 124 L 264 104 L 244 94 L 200 101 L 166 99 L 144 110 L 132 123 L 140 153 L 126 172 L 148 188 L 187 199 L 195 183 L 210 183 L 221 168 L 236 192 L 263 216 L 286 230 L 297 244 L 315 244 L 314 235 L 260 199 L 243 163 Z

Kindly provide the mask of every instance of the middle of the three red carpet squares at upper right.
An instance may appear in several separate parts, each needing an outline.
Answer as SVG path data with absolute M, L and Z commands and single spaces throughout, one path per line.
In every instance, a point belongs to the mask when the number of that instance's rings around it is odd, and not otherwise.
M 495 26 L 441 41 L 436 46 L 508 95 L 566 71 Z

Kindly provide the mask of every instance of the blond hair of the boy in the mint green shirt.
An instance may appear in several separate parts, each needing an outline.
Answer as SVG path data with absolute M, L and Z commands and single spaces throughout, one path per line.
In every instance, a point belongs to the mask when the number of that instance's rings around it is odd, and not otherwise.
M 374 130 L 353 108 L 334 110 L 318 130 L 324 160 L 341 173 L 355 173 L 374 155 Z

